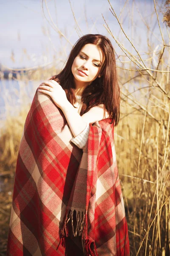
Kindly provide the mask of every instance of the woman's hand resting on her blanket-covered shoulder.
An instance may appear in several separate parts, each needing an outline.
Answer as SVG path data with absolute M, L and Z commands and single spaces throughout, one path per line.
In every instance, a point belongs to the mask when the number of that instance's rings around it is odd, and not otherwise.
M 62 108 L 68 102 L 65 90 L 54 80 L 42 82 L 39 86 L 40 93 L 45 93 L 51 97 L 57 107 Z

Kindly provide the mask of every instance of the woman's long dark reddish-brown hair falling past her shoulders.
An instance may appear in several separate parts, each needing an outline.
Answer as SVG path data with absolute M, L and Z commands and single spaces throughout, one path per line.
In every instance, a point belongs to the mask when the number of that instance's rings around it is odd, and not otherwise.
M 116 58 L 111 41 L 99 34 L 84 35 L 74 44 L 64 69 L 51 79 L 59 82 L 65 90 L 67 99 L 72 105 L 76 102 L 74 89 L 76 89 L 71 67 L 74 59 L 85 44 L 95 44 L 105 55 L 105 61 L 100 70 L 100 77 L 91 82 L 82 92 L 82 109 L 80 116 L 88 112 L 94 106 L 103 104 L 109 113 L 109 117 L 118 125 L 120 115 L 120 88 L 117 81 Z

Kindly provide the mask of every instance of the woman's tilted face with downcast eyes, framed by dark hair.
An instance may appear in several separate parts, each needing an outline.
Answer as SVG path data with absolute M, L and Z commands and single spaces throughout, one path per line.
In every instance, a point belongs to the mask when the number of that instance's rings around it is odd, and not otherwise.
M 71 67 L 75 83 L 88 85 L 94 81 L 99 76 L 103 61 L 104 55 L 96 45 L 85 44 Z

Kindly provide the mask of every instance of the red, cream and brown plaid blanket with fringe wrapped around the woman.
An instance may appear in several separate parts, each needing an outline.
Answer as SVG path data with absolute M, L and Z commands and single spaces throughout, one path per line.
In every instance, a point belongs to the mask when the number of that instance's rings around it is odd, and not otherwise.
M 128 256 L 113 124 L 73 143 L 62 111 L 36 92 L 17 158 L 8 256 Z

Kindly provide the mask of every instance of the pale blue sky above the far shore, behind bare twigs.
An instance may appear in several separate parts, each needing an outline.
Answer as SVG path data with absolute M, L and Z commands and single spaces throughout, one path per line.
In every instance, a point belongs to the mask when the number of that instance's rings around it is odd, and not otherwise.
M 74 10 L 75 17 L 82 31 L 79 35 L 88 33 L 99 33 L 108 35 L 104 28 L 105 20 L 108 22 L 111 31 L 119 38 L 125 41 L 125 37 L 119 33 L 120 28 L 116 19 L 111 14 L 108 0 L 70 0 Z M 111 4 L 119 16 L 125 0 L 111 0 Z M 164 1 L 159 0 L 159 6 L 163 6 Z M 71 12 L 69 0 L 47 0 L 47 5 L 55 25 L 67 36 L 71 44 L 74 44 L 79 35 L 75 29 L 75 21 Z M 45 2 L 44 2 L 45 9 Z M 151 29 L 160 38 L 159 27 L 156 24 L 153 0 L 135 0 L 132 9 L 132 0 L 129 0 L 122 12 L 123 28 L 135 42 L 139 51 L 144 51 L 146 47 L 147 31 L 141 20 L 137 8 L 140 10 L 142 17 Z M 86 14 L 85 14 L 86 13 Z M 154 15 L 152 15 L 154 14 Z M 45 15 L 48 20 L 50 17 L 45 9 Z M 131 18 L 136 24 L 132 29 Z M 159 12 L 160 22 L 162 14 Z M 86 23 L 86 19 L 88 25 Z M 95 22 L 95 26 L 93 23 Z M 70 52 L 71 45 L 45 20 L 42 12 L 41 0 L 0 0 L 0 64 L 11 68 L 33 67 L 38 64 L 45 64 L 56 58 L 66 59 Z M 161 22 L 162 26 L 162 22 Z M 50 39 L 44 35 L 44 31 L 49 32 Z M 46 33 L 47 34 L 47 33 Z M 121 54 L 119 47 L 110 37 L 113 46 L 118 54 Z M 156 38 L 153 38 L 153 44 L 160 44 Z M 55 52 L 54 48 L 57 52 Z M 13 52 L 13 59 L 11 58 Z

